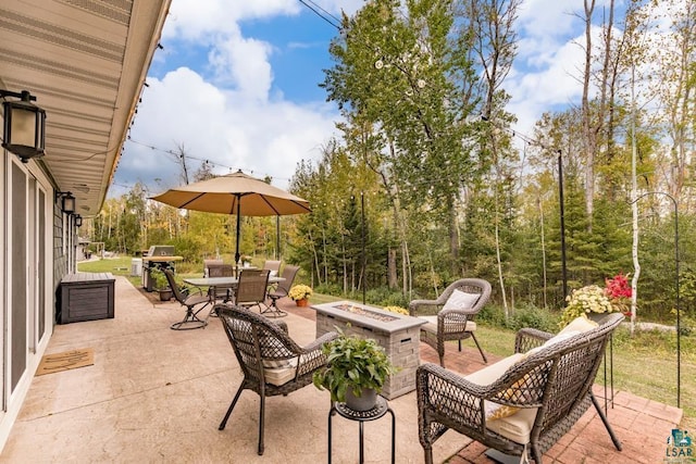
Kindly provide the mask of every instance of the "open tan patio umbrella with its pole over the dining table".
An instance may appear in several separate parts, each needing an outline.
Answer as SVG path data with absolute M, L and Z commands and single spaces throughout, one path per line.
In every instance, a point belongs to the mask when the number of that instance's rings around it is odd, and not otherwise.
M 151 199 L 184 210 L 235 214 L 235 263 L 239 262 L 239 225 L 243 215 L 281 216 L 311 212 L 307 200 L 248 176 L 241 171 L 176 187 Z

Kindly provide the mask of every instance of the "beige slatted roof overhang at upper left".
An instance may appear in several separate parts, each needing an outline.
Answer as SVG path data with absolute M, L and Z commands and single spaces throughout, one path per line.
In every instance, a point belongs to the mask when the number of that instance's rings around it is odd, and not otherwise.
M 3 0 L 0 88 L 46 110 L 46 155 L 76 213 L 105 200 L 171 0 Z

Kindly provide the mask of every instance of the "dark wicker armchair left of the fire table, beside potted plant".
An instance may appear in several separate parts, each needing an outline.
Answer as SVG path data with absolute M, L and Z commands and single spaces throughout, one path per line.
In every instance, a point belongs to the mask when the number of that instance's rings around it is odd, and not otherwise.
M 259 454 L 263 454 L 263 422 L 265 398 L 286 396 L 312 384 L 314 371 L 326 364 L 322 344 L 334 339 L 336 333 L 327 333 L 306 347 L 298 346 L 281 324 L 251 311 L 216 304 L 215 312 L 223 323 L 225 334 L 234 349 L 244 379 L 219 429 L 223 430 L 241 391 L 251 390 L 260 398 Z M 285 328 L 287 326 L 283 324 Z M 298 411 L 298 415 L 301 415 Z M 297 426 L 302 426 L 299 421 Z M 286 426 L 291 427 L 290 424 Z

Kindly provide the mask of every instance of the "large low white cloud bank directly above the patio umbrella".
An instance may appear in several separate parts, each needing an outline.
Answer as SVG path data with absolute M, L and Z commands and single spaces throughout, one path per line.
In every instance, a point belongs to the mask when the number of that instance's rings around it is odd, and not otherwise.
M 181 146 L 189 176 L 208 160 L 217 174 L 240 168 L 269 175 L 285 188 L 297 163 L 319 158 L 319 148 L 334 131 L 330 105 L 252 101 L 187 67 L 148 83 L 117 177 L 139 178 L 151 187 L 151 179 L 160 178 L 161 190 L 182 184 L 176 156 L 163 151 L 176 153 Z

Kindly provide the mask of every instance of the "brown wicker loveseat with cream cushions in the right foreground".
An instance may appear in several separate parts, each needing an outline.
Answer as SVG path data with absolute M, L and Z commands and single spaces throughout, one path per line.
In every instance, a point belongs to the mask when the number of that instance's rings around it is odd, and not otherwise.
M 621 451 L 592 386 L 606 344 L 622 319 L 621 313 L 609 314 L 595 328 L 557 336 L 545 346 L 542 343 L 552 338 L 551 334 L 522 329 L 515 339 L 515 354 L 467 377 L 433 363 L 419 366 L 419 439 L 425 462 L 433 462 L 433 443 L 451 428 L 502 453 L 518 455 L 520 462 L 529 462 L 531 453 L 538 464 L 591 403 Z

